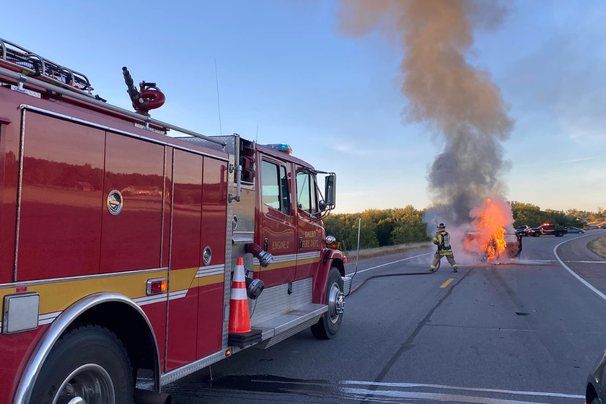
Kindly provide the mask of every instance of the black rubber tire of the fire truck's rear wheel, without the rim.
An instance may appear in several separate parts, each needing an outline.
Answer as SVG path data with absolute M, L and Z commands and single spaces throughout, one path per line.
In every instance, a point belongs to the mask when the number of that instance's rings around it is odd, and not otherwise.
M 107 372 L 116 404 L 133 403 L 133 369 L 124 345 L 109 329 L 92 324 L 70 329 L 55 343 L 36 379 L 30 402 L 52 403 L 62 383 L 84 365 L 101 366 Z M 71 380 L 78 385 L 76 379 Z

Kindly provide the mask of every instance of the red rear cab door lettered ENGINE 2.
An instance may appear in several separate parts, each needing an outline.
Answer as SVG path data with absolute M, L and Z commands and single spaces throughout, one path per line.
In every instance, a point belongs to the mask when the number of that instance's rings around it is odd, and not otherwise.
M 295 279 L 298 246 L 289 177 L 290 164 L 261 154 L 261 231 L 256 242 L 274 257 L 267 268 L 255 266 L 265 287 Z

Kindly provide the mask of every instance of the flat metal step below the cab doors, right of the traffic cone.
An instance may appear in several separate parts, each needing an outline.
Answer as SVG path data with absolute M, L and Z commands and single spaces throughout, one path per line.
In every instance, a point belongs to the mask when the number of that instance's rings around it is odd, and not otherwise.
M 253 346 L 255 348 L 267 349 L 271 345 L 275 345 L 299 333 L 299 331 L 303 331 L 305 328 L 314 325 L 318 322 L 320 316 L 327 311 L 327 305 L 310 303 L 281 316 L 255 324 L 254 328 L 260 328 L 262 331 L 262 342 Z

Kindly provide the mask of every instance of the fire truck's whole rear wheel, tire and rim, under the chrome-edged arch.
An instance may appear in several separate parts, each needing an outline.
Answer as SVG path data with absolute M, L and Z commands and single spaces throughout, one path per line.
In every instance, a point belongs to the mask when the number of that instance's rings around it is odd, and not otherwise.
M 133 369 L 122 342 L 109 329 L 87 324 L 70 329 L 55 343 L 30 402 L 132 404 L 133 388 Z

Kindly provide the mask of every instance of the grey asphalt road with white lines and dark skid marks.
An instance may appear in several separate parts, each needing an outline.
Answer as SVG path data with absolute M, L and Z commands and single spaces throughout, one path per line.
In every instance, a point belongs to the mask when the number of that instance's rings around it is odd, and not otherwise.
M 606 231 L 524 239 L 516 264 L 462 265 L 452 273 L 443 260 L 435 274 L 370 280 L 345 300 L 335 339 L 316 340 L 306 330 L 164 391 L 181 404 L 580 404 L 606 349 L 606 299 L 572 272 L 600 289 L 606 263 L 572 261 L 604 261 L 584 248 L 600 234 Z M 360 262 L 354 285 L 374 274 L 427 270 L 432 252 Z

